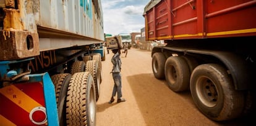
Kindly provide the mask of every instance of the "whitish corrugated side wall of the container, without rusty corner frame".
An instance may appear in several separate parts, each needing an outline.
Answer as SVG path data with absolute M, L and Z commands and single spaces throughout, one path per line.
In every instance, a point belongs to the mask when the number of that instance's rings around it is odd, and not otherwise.
M 95 6 L 101 10 L 101 4 L 98 3 L 99 5 L 83 0 L 40 0 L 40 14 L 36 22 L 41 27 L 104 40 L 103 18 L 95 11 Z

